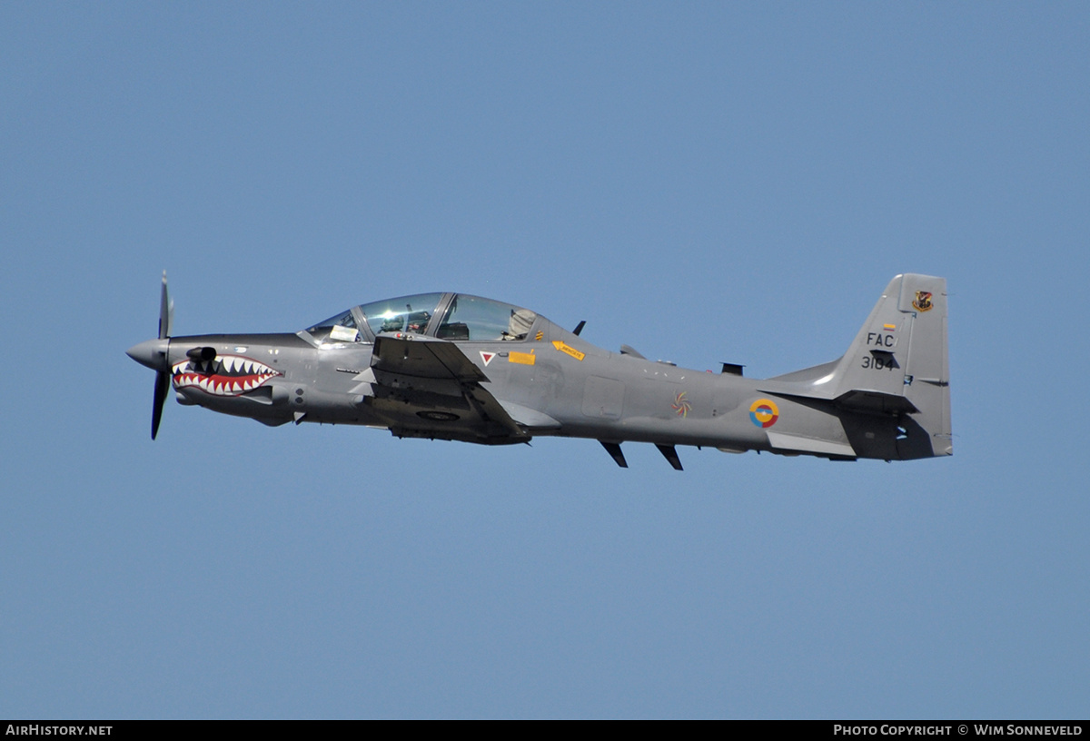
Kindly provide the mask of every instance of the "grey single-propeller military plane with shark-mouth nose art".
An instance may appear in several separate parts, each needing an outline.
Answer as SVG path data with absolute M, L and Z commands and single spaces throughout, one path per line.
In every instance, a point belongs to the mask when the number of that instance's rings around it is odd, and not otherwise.
M 353 306 L 299 332 L 172 337 L 129 350 L 157 373 L 152 437 L 181 404 L 266 425 L 325 422 L 484 445 L 535 435 L 767 450 L 831 460 L 949 455 L 946 280 L 897 276 L 839 360 L 764 380 L 596 348 L 525 308 L 463 293 Z

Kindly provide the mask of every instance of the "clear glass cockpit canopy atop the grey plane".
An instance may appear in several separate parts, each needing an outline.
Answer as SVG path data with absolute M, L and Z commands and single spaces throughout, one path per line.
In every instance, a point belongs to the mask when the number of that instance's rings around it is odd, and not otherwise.
M 431 335 L 462 342 L 526 339 L 537 315 L 465 293 L 419 293 L 361 304 L 310 327 L 319 343 L 373 342 L 383 332 Z

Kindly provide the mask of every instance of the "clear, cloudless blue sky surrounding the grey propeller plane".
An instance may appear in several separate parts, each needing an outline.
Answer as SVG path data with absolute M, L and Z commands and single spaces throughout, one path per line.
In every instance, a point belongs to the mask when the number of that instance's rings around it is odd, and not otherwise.
M 1090 7 L 0 4 L 0 717 L 1082 717 Z M 267 428 L 124 355 L 464 291 L 766 377 L 950 290 L 953 458 Z

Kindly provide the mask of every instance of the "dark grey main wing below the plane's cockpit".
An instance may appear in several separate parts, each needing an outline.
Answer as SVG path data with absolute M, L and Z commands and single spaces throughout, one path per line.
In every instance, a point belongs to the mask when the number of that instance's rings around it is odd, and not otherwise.
M 530 434 L 481 384 L 488 377 L 449 340 L 379 335 L 364 403 L 399 437 L 505 445 Z

